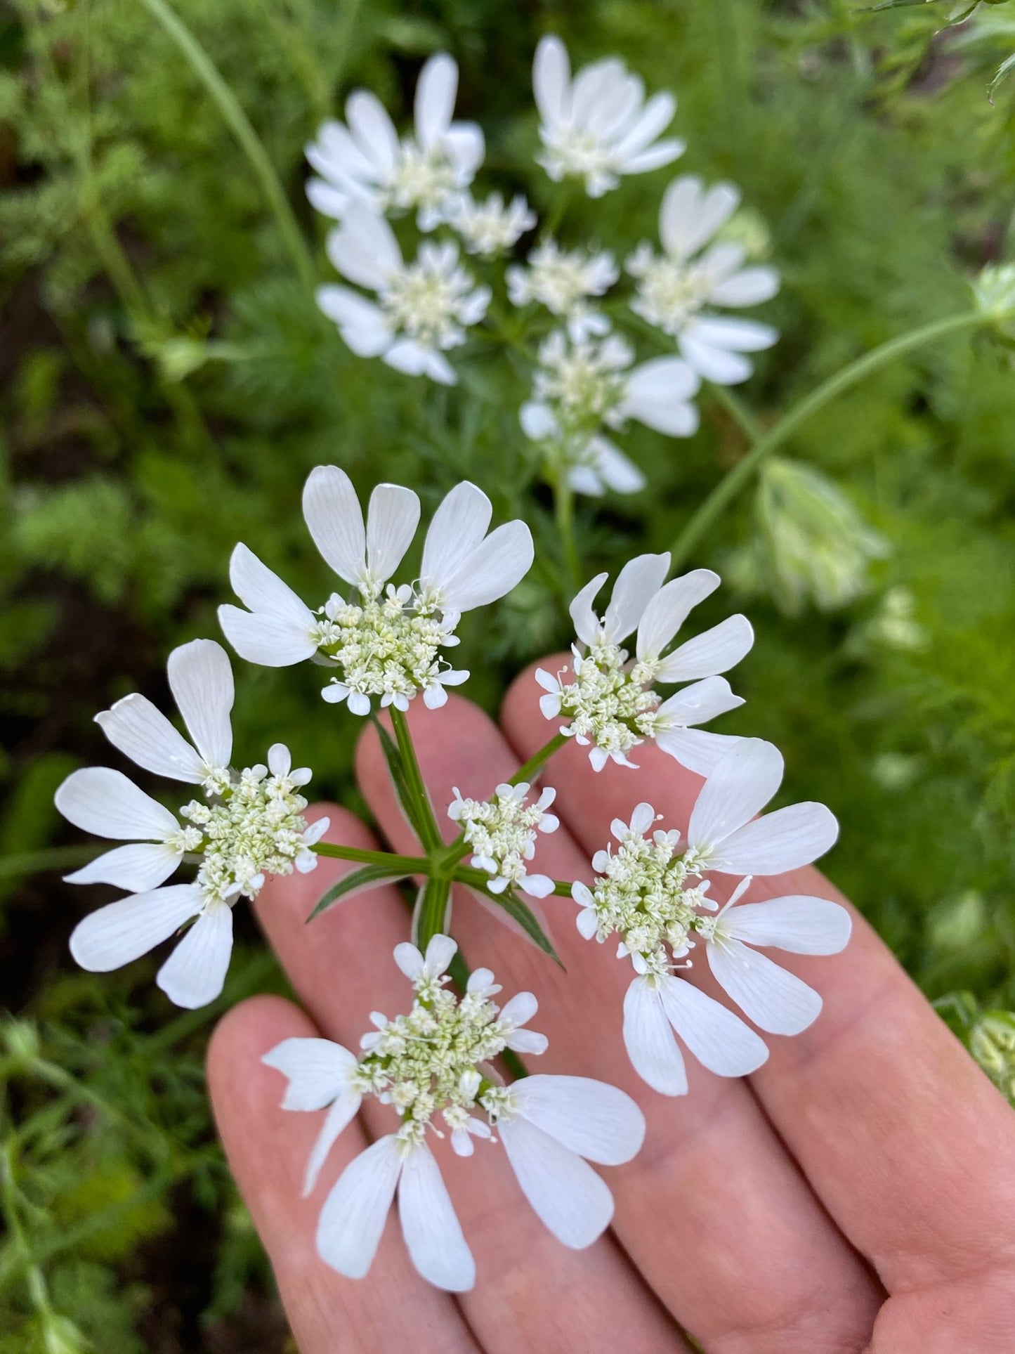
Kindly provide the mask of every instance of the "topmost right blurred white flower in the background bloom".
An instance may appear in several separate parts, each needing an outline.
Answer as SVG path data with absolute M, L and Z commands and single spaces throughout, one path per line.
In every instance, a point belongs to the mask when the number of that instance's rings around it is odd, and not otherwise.
M 656 93 L 646 102 L 637 76 L 617 57 L 595 61 L 571 80 L 567 49 L 559 38 L 536 47 L 532 87 L 539 107 L 543 154 L 551 179 L 585 179 L 590 198 L 616 188 L 625 173 L 646 173 L 683 153 L 683 142 L 658 141 L 673 121 L 677 100 Z

